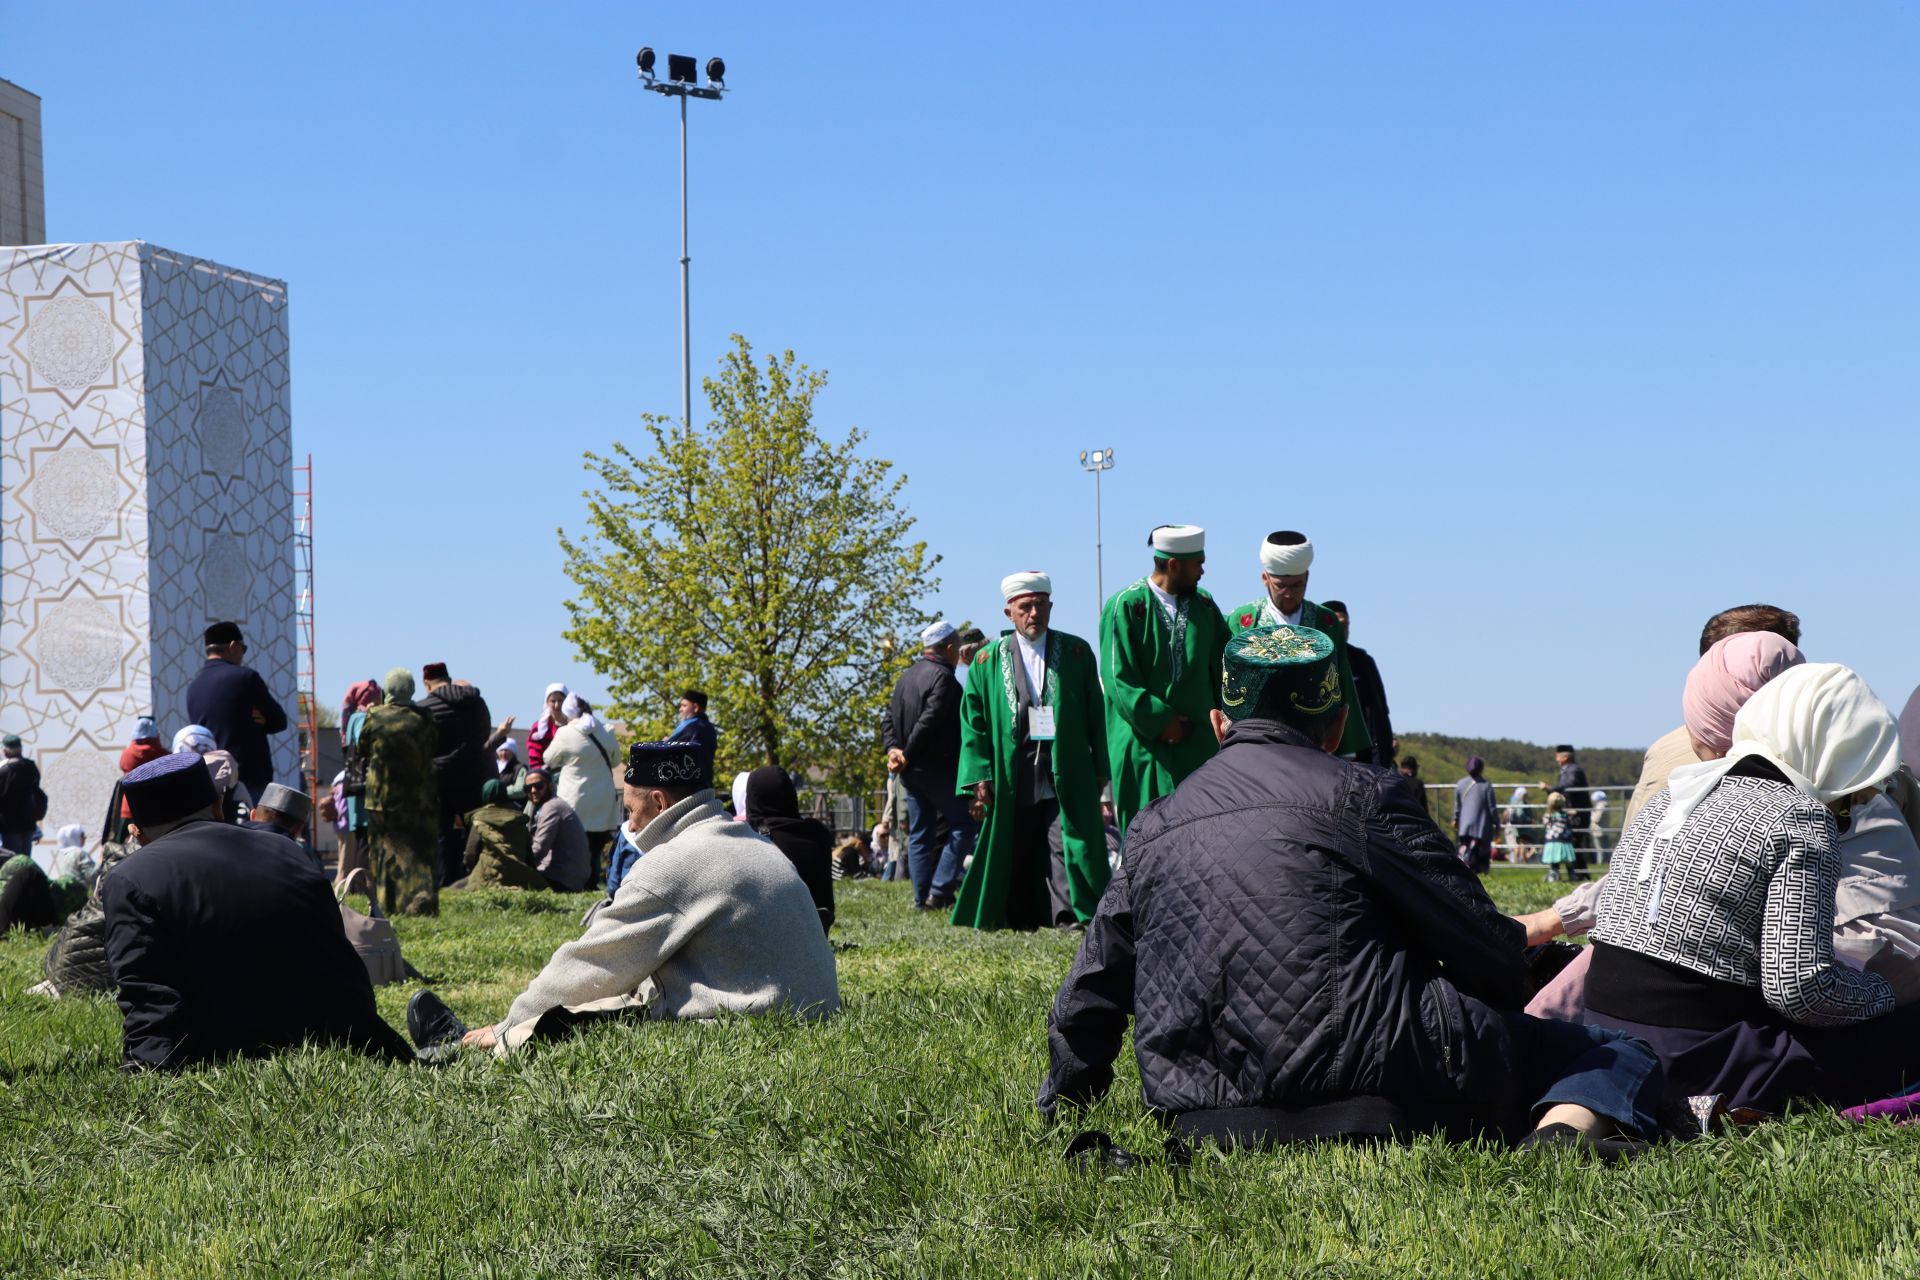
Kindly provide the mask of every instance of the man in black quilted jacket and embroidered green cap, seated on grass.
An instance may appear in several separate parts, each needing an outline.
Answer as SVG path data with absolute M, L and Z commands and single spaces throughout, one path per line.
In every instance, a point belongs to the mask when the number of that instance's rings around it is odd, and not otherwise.
M 1521 1013 L 1521 927 L 1398 775 L 1332 754 L 1332 654 L 1296 626 L 1227 645 L 1221 752 L 1135 819 L 1054 1000 L 1041 1111 L 1112 1086 L 1131 1015 L 1146 1105 L 1188 1138 L 1638 1150 L 1653 1052 Z

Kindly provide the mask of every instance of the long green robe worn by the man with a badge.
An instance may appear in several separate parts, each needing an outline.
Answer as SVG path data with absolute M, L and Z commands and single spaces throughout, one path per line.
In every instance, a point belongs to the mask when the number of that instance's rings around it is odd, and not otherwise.
M 1012 631 L 973 654 L 960 695 L 960 770 L 956 785 L 993 783 L 993 804 L 981 819 L 973 865 L 960 885 L 952 923 L 1004 929 L 1014 885 L 1014 806 L 1018 783 L 1014 668 L 1020 652 Z M 1068 896 L 1073 913 L 1092 919 L 1112 867 L 1100 823 L 1100 783 L 1106 781 L 1106 700 L 1092 645 L 1066 631 L 1046 633 L 1046 704 L 1054 710 L 1054 791 L 1060 796 L 1060 839 L 1066 846 Z M 1044 865 L 1044 850 L 1041 854 Z M 1027 892 L 1031 887 L 1018 887 Z M 1044 896 L 1044 887 L 1041 890 Z

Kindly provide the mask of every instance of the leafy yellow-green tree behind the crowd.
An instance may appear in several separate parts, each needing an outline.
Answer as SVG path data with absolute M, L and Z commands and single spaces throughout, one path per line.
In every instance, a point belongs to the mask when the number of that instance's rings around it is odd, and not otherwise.
M 586 530 L 561 530 L 578 595 L 564 637 L 607 681 L 611 714 L 664 735 L 697 685 L 718 771 L 780 764 L 843 789 L 883 773 L 879 714 L 916 647 L 939 557 L 912 537 L 906 476 L 858 428 L 814 428 L 824 370 L 755 363 L 733 334 L 705 378 L 701 428 L 645 415 L 651 449 L 586 455 Z

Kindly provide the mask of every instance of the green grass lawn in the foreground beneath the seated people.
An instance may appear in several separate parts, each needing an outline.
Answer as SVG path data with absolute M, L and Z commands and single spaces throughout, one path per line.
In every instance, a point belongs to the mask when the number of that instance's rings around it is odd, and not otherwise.
M 1496 871 L 1509 910 L 1551 902 Z M 1799 1115 L 1628 1167 L 1421 1140 L 1068 1167 L 1077 1126 L 1158 1157 L 1131 1055 L 1044 1126 L 1075 936 L 916 917 L 841 885 L 826 1025 L 599 1027 L 515 1063 L 301 1052 L 115 1071 L 111 1002 L 19 994 L 0 944 L 0 1276 L 1901 1276 L 1920 1132 Z M 589 898 L 447 894 L 407 956 L 468 1021 Z M 401 1023 L 411 992 L 386 988 Z

